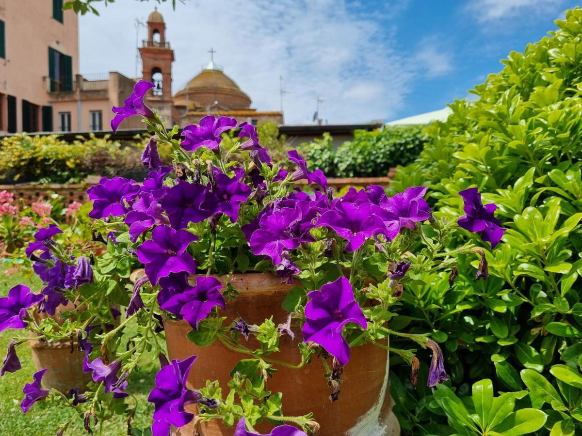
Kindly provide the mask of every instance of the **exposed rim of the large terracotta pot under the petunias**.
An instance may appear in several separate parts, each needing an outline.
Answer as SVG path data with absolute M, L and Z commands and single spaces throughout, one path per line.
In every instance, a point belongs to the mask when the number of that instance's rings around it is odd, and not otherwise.
M 137 281 L 138 278 L 143 277 L 145 271 L 143 268 L 137 269 L 132 272 L 130 280 L 133 283 Z M 188 278 L 190 285 L 196 285 L 196 277 L 205 276 L 205 274 L 191 275 Z M 226 276 L 217 276 L 211 274 L 211 277 L 215 277 L 221 281 L 224 288 L 222 291 L 226 290 L 226 286 L 230 283 L 233 288 L 239 293 L 236 298 L 252 298 L 254 296 L 260 295 L 287 295 L 289 291 L 292 290 L 296 285 L 289 285 L 286 283 L 281 283 L 281 278 L 274 276 L 271 273 L 262 273 L 258 271 L 249 271 L 248 273 L 234 273 Z

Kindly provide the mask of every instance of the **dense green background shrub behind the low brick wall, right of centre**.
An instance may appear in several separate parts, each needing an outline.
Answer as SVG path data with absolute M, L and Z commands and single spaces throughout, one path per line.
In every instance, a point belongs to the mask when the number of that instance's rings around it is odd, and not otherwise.
M 396 165 L 412 162 L 423 147 L 425 135 L 418 126 L 356 130 L 354 139 L 333 148 L 328 133 L 300 145 L 310 166 L 329 177 L 384 177 Z

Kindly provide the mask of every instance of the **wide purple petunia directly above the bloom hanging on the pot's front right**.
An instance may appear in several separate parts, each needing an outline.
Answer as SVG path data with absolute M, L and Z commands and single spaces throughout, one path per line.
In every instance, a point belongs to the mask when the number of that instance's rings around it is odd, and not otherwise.
M 332 228 L 347 241 L 346 251 L 356 251 L 367 238 L 384 233 L 384 224 L 372 213 L 370 203 L 336 202 L 317 220 L 316 226 Z

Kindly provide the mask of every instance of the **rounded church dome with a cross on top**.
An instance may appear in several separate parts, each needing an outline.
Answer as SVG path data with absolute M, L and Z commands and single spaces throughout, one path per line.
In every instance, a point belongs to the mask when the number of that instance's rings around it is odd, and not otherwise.
M 251 99 L 232 78 L 211 62 L 183 90 L 176 92 L 174 104 L 188 106 L 189 109 L 204 110 L 219 106 L 227 110 L 240 110 L 249 109 Z

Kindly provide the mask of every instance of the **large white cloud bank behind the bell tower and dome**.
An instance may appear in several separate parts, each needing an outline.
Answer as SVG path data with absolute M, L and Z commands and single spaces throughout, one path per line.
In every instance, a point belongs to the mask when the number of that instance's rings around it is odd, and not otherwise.
M 99 17 L 81 17 L 81 72 L 133 76 L 134 20 L 145 22 L 153 8 L 152 1 L 116 2 L 101 8 Z M 158 9 L 175 50 L 173 92 L 200 72 L 214 47 L 215 61 L 250 95 L 254 108 L 279 109 L 284 77 L 287 123 L 310 122 L 317 95 L 324 99 L 320 115 L 329 122 L 387 119 L 402 106 L 416 75 L 417 66 L 391 48 L 393 28 L 344 1 L 201 0 L 178 3 L 176 11 L 167 3 Z M 419 56 L 427 74 L 450 68 L 442 53 Z

